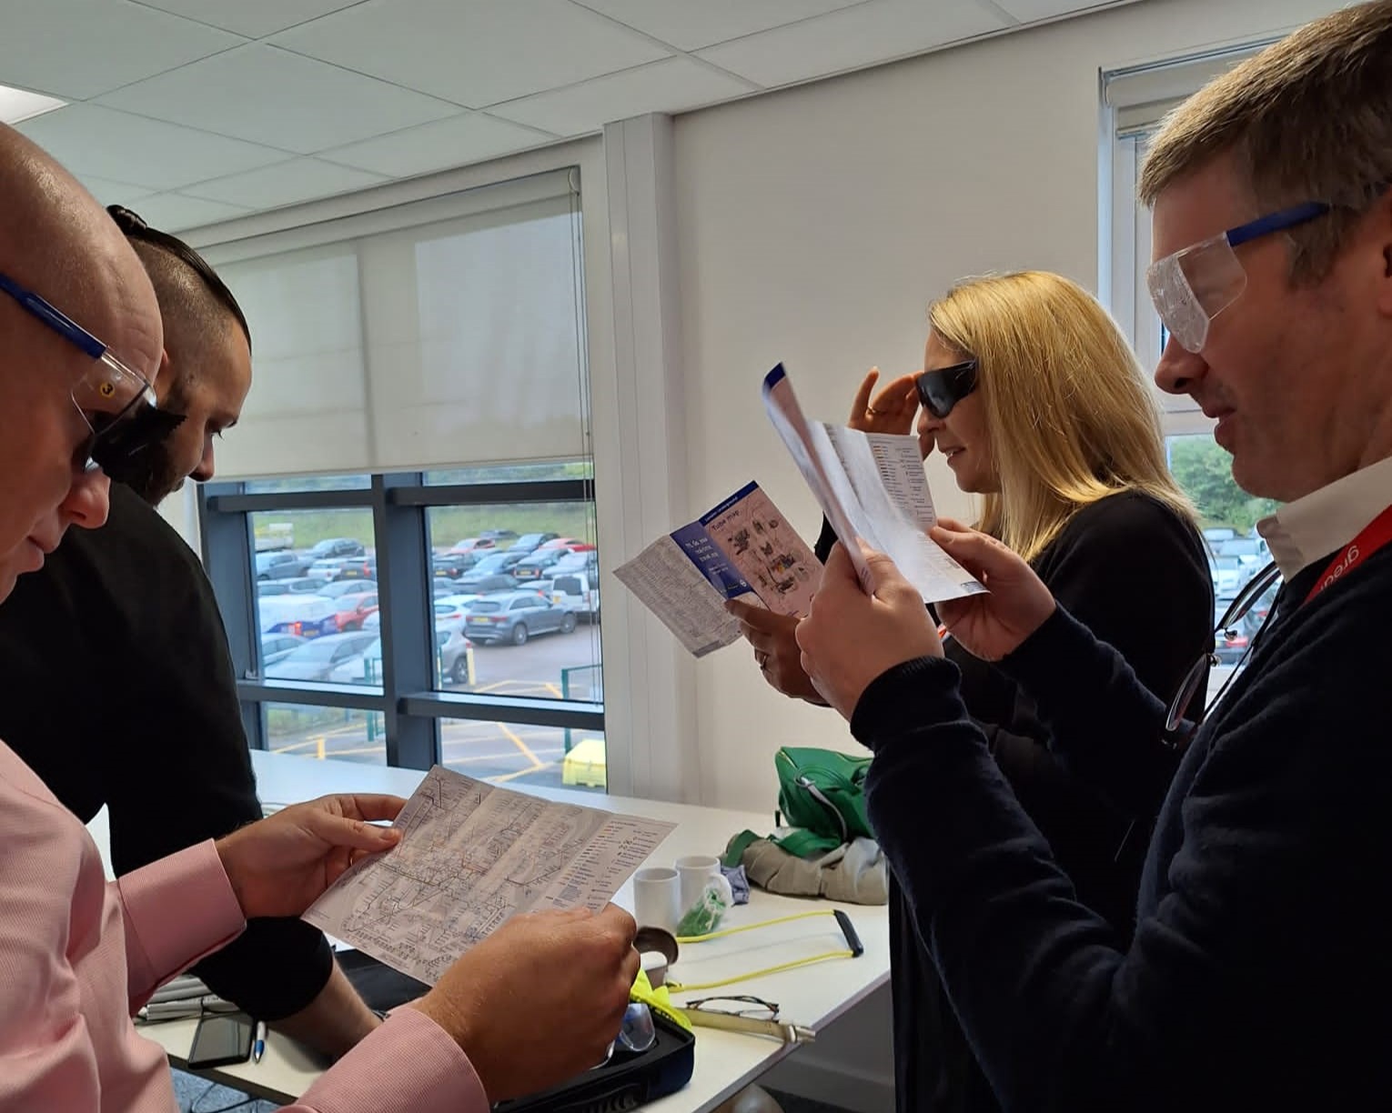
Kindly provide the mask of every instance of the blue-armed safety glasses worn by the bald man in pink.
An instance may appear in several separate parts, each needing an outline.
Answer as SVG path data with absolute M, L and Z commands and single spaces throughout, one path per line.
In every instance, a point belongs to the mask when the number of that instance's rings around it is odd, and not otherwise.
M 92 369 L 72 387 L 72 403 L 92 433 L 84 448 L 88 467 L 110 472 L 109 465 L 150 440 L 156 426 L 163 430 L 153 420 L 157 410 L 150 380 L 113 356 L 63 310 L 6 274 L 0 274 L 0 292 L 92 358 Z

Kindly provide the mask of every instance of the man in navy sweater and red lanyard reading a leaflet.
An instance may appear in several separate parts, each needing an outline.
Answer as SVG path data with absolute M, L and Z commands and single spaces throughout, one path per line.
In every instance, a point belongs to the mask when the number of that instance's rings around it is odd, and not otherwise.
M 1201 725 L 1197 686 L 1147 691 L 1004 545 L 934 531 L 991 588 L 940 618 L 1077 775 L 1121 799 L 1180 755 L 1129 947 L 1011 794 L 888 558 L 867 554 L 867 597 L 832 552 L 799 626 L 874 750 L 870 819 L 1006 1110 L 1392 1105 L 1389 182 L 1388 0 L 1236 67 L 1151 143 L 1155 380 L 1285 504 L 1260 525 L 1282 587 Z

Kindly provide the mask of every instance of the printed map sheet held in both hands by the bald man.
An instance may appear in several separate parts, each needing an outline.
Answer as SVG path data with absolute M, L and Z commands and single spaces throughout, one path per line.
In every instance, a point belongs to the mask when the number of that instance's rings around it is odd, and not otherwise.
M 599 911 L 672 824 L 557 804 L 436 765 L 395 850 L 358 863 L 305 913 L 429 985 L 514 913 Z

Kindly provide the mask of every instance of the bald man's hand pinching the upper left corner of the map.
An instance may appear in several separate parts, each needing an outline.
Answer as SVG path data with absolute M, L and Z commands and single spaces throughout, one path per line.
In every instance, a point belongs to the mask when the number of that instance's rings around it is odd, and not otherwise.
M 401 842 L 397 828 L 370 821 L 395 819 L 405 803 L 400 796 L 322 796 L 219 839 L 242 915 L 299 915 L 355 861 Z

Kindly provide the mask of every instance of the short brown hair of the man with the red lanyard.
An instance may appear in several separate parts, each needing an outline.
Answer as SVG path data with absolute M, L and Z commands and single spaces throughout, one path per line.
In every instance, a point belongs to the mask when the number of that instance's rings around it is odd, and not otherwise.
M 1176 107 L 1150 145 L 1140 199 L 1154 205 L 1219 156 L 1233 159 L 1260 211 L 1306 200 L 1335 206 L 1288 234 L 1292 280 L 1324 278 L 1392 185 L 1392 3 L 1315 19 Z

